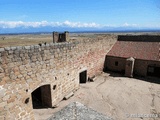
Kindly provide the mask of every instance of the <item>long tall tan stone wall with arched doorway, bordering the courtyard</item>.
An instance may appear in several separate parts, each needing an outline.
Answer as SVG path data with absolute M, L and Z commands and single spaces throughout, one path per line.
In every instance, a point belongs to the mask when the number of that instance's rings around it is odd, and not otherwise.
M 50 85 L 51 104 L 79 87 L 79 73 L 103 70 L 112 39 L 0 48 L 0 119 L 34 119 L 32 92 Z

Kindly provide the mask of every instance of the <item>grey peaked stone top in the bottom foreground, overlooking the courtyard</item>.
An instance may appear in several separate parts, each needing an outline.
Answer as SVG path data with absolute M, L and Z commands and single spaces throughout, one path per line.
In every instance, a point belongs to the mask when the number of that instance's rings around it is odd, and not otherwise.
M 48 120 L 112 120 L 112 118 L 98 113 L 79 102 L 73 102 L 54 113 Z

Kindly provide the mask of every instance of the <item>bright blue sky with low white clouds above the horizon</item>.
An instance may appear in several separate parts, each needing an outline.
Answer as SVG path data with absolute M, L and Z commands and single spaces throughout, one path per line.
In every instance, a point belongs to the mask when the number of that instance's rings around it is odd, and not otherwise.
M 160 0 L 0 0 L 0 32 L 50 27 L 160 29 Z

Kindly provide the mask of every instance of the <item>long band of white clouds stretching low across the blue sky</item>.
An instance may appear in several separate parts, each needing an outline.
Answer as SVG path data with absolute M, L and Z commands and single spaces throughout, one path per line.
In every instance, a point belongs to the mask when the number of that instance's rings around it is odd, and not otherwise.
M 94 22 L 91 23 L 82 23 L 82 22 L 71 22 L 71 21 L 64 21 L 64 22 L 48 22 L 48 21 L 40 21 L 40 22 L 24 22 L 24 21 L 0 21 L 0 28 L 17 28 L 17 27 L 23 27 L 23 28 L 40 28 L 40 27 L 71 27 L 71 28 L 108 28 L 108 27 L 148 27 L 148 28 L 160 28 L 160 25 L 146 25 L 141 26 L 138 24 L 130 24 L 130 23 L 124 23 L 122 25 L 116 25 L 116 24 L 108 24 L 108 25 L 100 25 Z

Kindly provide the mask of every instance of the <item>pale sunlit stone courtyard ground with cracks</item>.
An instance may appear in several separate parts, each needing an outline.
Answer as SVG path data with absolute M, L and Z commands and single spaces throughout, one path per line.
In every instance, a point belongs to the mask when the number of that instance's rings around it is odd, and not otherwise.
M 45 120 L 77 101 L 115 120 L 159 120 L 160 86 L 156 79 L 148 82 L 150 79 L 102 73 L 94 82 L 80 84 L 74 96 L 61 101 L 58 107 L 34 109 L 35 119 Z

